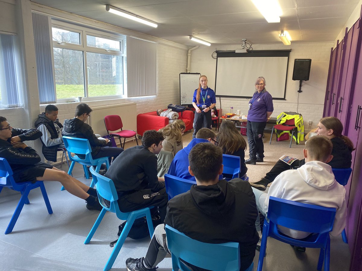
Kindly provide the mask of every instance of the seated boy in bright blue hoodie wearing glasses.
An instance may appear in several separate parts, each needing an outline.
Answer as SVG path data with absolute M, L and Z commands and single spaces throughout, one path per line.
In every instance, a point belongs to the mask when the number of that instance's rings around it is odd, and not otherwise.
M 189 173 L 189 153 L 191 149 L 197 144 L 202 142 L 214 143 L 218 145 L 216 141 L 216 134 L 214 131 L 209 128 L 201 128 L 196 134 L 196 138 L 192 139 L 184 149 L 177 152 L 173 158 L 170 168 L 168 169 L 168 174 L 172 176 L 177 176 L 187 180 L 195 181 L 195 177 Z

